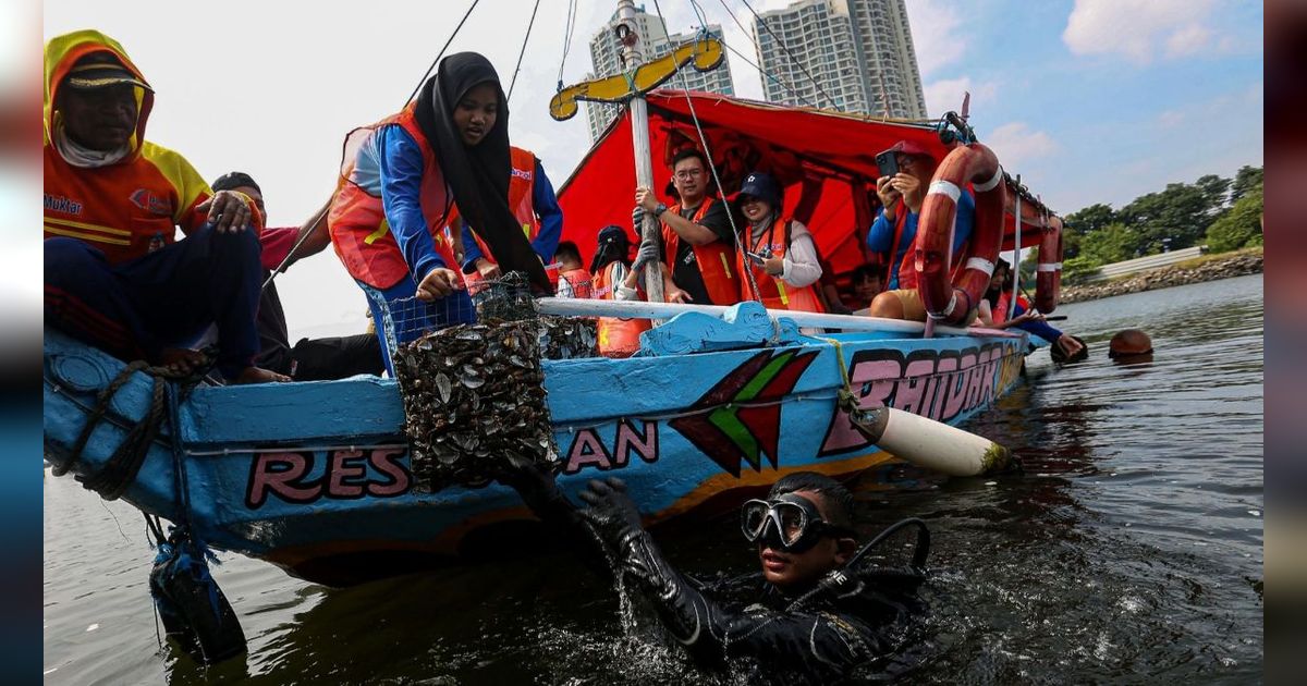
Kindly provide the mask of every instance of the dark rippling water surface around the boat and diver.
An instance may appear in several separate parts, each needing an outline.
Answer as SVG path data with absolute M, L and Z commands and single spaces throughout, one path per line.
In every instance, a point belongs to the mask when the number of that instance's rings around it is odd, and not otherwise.
M 968 426 L 1023 474 L 861 480 L 868 532 L 904 516 L 933 531 L 907 679 L 1260 679 L 1261 312 L 1260 276 L 1065 306 L 1090 359 L 1035 353 Z M 1153 337 L 1151 361 L 1107 358 L 1121 328 Z M 223 555 L 250 655 L 204 669 L 156 640 L 140 515 L 72 480 L 44 487 L 47 683 L 714 682 L 627 638 L 616 596 L 566 555 L 348 589 Z M 663 541 L 689 571 L 757 566 L 733 516 Z

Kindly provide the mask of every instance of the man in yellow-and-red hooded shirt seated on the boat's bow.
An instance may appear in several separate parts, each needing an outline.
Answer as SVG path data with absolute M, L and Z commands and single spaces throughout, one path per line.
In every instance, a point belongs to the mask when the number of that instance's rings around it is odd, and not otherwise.
M 217 324 L 229 382 L 288 380 L 255 366 L 254 203 L 213 193 L 182 155 L 145 140 L 154 91 L 116 41 L 60 35 L 44 61 L 46 321 L 183 371 L 200 362 L 188 344 Z

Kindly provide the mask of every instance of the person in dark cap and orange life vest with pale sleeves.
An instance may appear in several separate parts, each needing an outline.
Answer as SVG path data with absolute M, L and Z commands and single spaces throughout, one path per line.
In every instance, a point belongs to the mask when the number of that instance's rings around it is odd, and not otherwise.
M 745 178 L 736 205 L 748 221 L 736 253 L 740 273 L 748 268 L 758 295 L 769 310 L 823 312 L 813 285 L 821 278 L 817 246 L 808 227 L 783 214 L 783 196 L 775 179 L 761 171 Z M 742 301 L 753 299 L 746 278 L 740 280 Z

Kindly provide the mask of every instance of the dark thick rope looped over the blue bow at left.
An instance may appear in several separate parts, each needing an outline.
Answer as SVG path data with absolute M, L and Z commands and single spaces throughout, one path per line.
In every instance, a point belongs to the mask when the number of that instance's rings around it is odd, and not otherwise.
M 169 367 L 150 366 L 142 359 L 128 363 L 108 385 L 101 389 L 95 399 L 95 406 L 88 413 L 86 425 L 82 426 L 81 434 L 73 444 L 71 457 L 63 465 L 55 465 L 51 473 L 56 477 L 64 476 L 77 464 L 77 460 L 82 456 L 82 451 L 86 449 L 86 443 L 90 442 L 91 434 L 95 433 L 95 427 L 99 426 L 101 421 L 108 413 L 108 405 L 114 400 L 114 396 L 136 372 L 145 372 L 150 375 L 153 382 L 150 387 L 150 404 L 145 416 L 127 431 L 127 436 L 118 444 L 118 448 L 114 449 L 114 453 L 110 455 L 108 460 L 105 461 L 105 466 L 98 473 L 76 477 L 85 489 L 98 493 L 106 500 L 120 498 L 136 478 L 141 465 L 145 463 L 145 456 L 149 453 L 150 443 L 158 438 L 159 430 L 163 426 L 163 417 L 167 414 L 165 405 L 167 384 L 170 382 L 179 382 L 186 388 L 186 392 L 188 392 L 204 379 L 204 374 L 213 365 L 213 361 L 214 357 L 212 354 L 205 354 L 201 368 L 188 374 L 180 374 Z M 178 430 L 174 425 L 173 431 L 176 433 Z

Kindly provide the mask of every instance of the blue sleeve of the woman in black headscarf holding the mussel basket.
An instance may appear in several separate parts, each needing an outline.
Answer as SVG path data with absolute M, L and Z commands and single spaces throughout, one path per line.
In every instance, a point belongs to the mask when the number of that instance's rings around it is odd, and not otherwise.
M 438 267 L 448 267 L 435 252 L 435 240 L 422 214 L 422 148 L 399 125 L 376 132 L 380 154 L 382 208 L 400 244 L 414 282 Z

